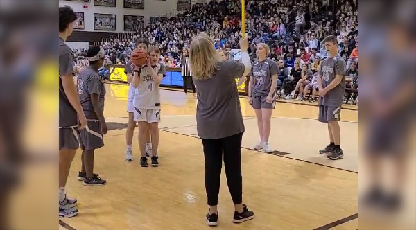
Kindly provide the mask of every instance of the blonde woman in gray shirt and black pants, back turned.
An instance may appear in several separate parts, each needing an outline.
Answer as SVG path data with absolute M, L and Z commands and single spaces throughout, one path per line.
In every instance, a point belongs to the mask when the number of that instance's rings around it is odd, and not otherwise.
M 241 223 L 254 218 L 254 213 L 243 204 L 241 177 L 241 140 L 245 131 L 236 79 L 245 80 L 251 63 L 247 53 L 248 42 L 241 42 L 242 63 L 225 61 L 215 51 L 211 37 L 199 35 L 191 43 L 189 60 L 193 81 L 198 89 L 196 122 L 205 155 L 205 187 L 209 226 L 218 224 L 218 193 L 223 164 L 229 193 L 234 202 L 233 222 Z

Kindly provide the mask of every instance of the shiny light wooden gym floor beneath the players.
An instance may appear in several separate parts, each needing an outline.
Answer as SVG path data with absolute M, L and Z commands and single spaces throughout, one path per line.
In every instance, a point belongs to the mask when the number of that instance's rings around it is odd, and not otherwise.
M 107 185 L 78 182 L 80 154 L 68 179 L 69 196 L 78 199 L 80 214 L 60 220 L 60 229 L 209 229 L 204 158 L 196 135 L 196 100 L 182 91 L 162 91 L 159 168 L 124 161 L 127 85 L 106 84 L 105 117 L 110 130 L 105 147 L 96 150 L 94 172 Z M 233 224 L 234 207 L 222 175 L 219 225 L 216 229 L 357 229 L 358 112 L 343 109 L 340 122 L 344 159 L 329 161 L 318 150 L 328 143 L 327 126 L 318 107 L 277 103 L 270 143 L 275 152 L 250 150 L 259 137 L 254 111 L 241 98 L 246 132 L 243 137 L 243 200 L 256 218 Z M 80 153 L 80 151 L 79 151 Z

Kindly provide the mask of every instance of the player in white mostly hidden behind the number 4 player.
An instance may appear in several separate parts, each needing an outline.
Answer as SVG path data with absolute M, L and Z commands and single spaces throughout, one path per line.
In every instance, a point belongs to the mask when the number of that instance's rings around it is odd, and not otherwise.
M 135 48 L 143 52 L 148 52 L 148 43 L 146 39 L 138 39 Z M 133 69 L 134 64 L 132 62 L 127 62 L 125 65 L 124 73 L 127 74 L 127 82 L 130 84 L 128 88 L 128 97 L 127 97 L 127 112 L 128 112 L 128 125 L 127 130 L 125 131 L 125 143 L 127 145 L 127 151 L 125 152 L 125 161 L 133 161 L 133 153 L 132 153 L 132 142 L 133 142 L 133 134 L 135 133 L 135 126 L 136 123 L 133 119 L 134 115 L 134 108 L 133 108 L 133 98 L 135 97 L 136 88 L 132 86 L 133 80 Z M 150 142 L 150 131 L 146 134 L 146 155 L 152 155 L 152 143 Z

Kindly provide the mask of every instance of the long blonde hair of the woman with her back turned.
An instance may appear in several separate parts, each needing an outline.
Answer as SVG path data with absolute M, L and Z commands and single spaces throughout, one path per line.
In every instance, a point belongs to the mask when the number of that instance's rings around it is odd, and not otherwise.
M 202 34 L 192 40 L 189 64 L 193 78 L 197 80 L 211 78 L 218 70 L 220 62 L 220 55 L 216 52 L 211 37 Z

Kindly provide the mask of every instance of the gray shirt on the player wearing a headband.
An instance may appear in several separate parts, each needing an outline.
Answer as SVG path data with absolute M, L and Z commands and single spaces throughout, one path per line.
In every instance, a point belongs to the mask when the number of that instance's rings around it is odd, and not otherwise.
M 92 106 L 91 94 L 98 94 L 100 105 L 104 109 L 105 86 L 101 81 L 101 77 L 94 69 L 87 67 L 80 71 L 77 82 L 78 98 L 80 98 L 85 117 L 91 120 L 98 120 L 98 116 Z

